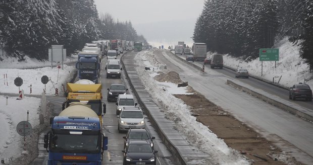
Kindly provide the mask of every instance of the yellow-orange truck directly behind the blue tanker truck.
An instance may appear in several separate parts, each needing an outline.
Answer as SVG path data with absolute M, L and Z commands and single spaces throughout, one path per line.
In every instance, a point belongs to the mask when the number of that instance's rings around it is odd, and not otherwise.
M 106 113 L 106 104 L 102 102 L 101 84 L 94 84 L 87 79 L 81 79 L 75 83 L 67 83 L 66 101 L 62 109 L 69 107 L 72 102 L 87 103 L 98 115 L 102 125 L 102 116 Z

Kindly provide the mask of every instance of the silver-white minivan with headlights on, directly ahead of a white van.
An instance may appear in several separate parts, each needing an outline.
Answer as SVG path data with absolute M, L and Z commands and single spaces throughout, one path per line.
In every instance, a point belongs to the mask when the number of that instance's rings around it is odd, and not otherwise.
M 123 107 L 118 118 L 118 130 L 127 131 L 129 129 L 145 129 L 144 119 L 147 116 L 143 115 L 142 110 L 139 107 Z

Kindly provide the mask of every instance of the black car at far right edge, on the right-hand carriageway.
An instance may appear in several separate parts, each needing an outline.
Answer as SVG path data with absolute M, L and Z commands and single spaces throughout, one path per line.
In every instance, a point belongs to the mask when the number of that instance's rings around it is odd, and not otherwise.
M 312 101 L 312 91 L 310 87 L 306 84 L 295 84 L 290 87 L 289 90 L 289 99 L 296 100 L 296 99 L 305 99 L 308 101 Z

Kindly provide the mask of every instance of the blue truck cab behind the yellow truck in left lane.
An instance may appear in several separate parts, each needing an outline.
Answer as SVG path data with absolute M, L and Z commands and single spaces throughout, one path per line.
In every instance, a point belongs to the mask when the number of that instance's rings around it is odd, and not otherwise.
M 100 75 L 99 55 L 91 52 L 79 52 L 76 69 L 78 69 L 78 79 L 89 79 L 97 84 Z

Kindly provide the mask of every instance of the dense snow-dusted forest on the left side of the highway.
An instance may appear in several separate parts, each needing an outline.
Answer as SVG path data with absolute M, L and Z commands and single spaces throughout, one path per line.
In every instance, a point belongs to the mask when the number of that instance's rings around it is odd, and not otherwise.
M 0 2 L 0 46 L 20 60 L 47 59 L 51 45 L 64 45 L 69 55 L 94 40 L 141 38 L 130 21 L 115 22 L 109 14 L 99 18 L 93 0 Z

